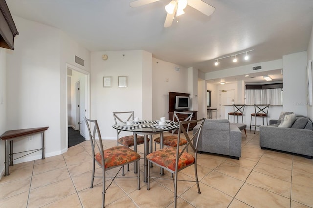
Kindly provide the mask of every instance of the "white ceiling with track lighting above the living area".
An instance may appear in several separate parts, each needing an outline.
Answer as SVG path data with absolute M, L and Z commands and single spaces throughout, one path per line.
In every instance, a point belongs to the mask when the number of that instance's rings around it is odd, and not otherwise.
M 216 8 L 213 15 L 187 6 L 178 23 L 164 28 L 170 0 L 136 8 L 130 0 L 6 0 L 12 15 L 59 28 L 90 51 L 145 50 L 205 73 L 307 50 L 313 0 L 203 1 Z M 225 58 L 214 66 L 217 58 L 252 49 L 249 61 L 238 55 L 237 63 Z

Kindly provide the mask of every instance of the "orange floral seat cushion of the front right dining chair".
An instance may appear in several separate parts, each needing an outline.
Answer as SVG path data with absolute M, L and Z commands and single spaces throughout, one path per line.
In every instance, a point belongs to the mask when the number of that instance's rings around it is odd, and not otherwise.
M 179 152 L 181 152 L 179 150 Z M 176 162 L 176 148 L 164 148 L 158 151 L 152 152 L 147 155 L 147 159 L 151 160 L 161 166 L 167 167 L 170 170 L 175 171 L 175 162 Z M 182 153 L 182 156 L 178 161 L 178 169 L 193 164 L 195 161 L 194 156 L 188 152 Z

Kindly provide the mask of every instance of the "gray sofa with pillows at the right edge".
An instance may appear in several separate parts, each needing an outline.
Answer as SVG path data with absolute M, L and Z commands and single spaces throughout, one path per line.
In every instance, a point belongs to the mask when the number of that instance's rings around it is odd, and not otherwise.
M 313 126 L 308 117 L 297 116 L 290 128 L 278 127 L 279 120 L 270 120 L 260 127 L 261 149 L 274 149 L 313 157 Z

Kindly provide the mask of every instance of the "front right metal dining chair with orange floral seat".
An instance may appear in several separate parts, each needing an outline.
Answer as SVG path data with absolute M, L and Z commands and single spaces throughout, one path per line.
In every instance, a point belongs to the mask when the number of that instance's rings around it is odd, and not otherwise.
M 205 118 L 191 121 L 179 121 L 179 131 L 178 131 L 178 142 L 175 147 L 163 148 L 158 151 L 154 151 L 147 155 L 147 160 L 150 163 L 155 164 L 174 175 L 172 179 L 164 178 L 164 177 L 151 177 L 150 176 L 150 166 L 148 166 L 148 183 L 147 190 L 150 190 L 150 179 L 165 179 L 165 180 L 173 180 L 174 182 L 174 207 L 176 208 L 176 200 L 177 200 L 177 182 L 178 181 L 186 181 L 186 180 L 178 180 L 179 171 L 194 165 L 195 171 L 195 180 L 188 180 L 188 182 L 196 182 L 198 193 L 200 194 L 199 180 L 197 174 L 197 150 L 198 150 L 198 140 L 199 135 L 203 126 Z M 183 125 L 197 124 L 200 123 L 198 129 L 193 130 L 192 135 L 189 135 Z M 199 125 L 199 124 L 198 124 Z M 181 134 L 183 134 L 186 138 L 187 144 L 186 146 L 180 146 L 179 140 L 181 138 Z M 193 153 L 186 152 L 187 146 L 190 146 L 193 150 Z

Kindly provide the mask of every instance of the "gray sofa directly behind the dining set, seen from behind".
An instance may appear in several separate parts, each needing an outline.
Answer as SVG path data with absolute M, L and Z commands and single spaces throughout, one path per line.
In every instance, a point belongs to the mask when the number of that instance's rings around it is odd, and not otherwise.
M 199 125 L 194 127 L 194 131 Z M 227 119 L 206 119 L 199 138 L 198 152 L 228 155 L 239 159 L 241 156 L 241 131 L 230 125 Z

